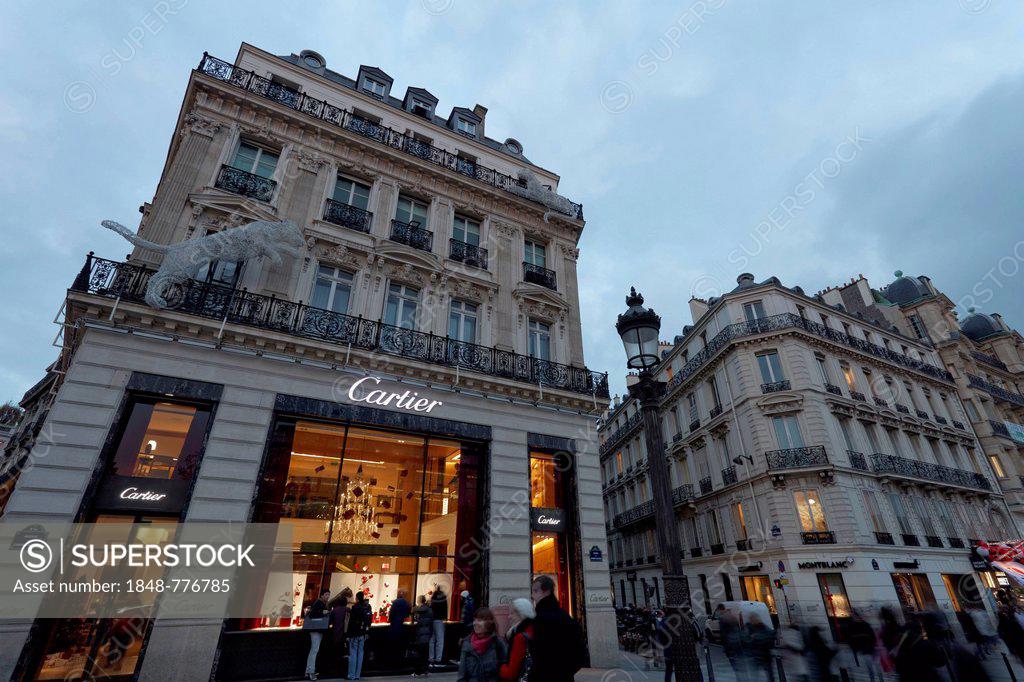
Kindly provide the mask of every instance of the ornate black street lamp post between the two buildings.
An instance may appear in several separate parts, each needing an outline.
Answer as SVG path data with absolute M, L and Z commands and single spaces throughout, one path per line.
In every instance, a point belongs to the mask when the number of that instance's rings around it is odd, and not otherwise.
M 647 444 L 647 473 L 654 503 L 654 536 L 662 554 L 662 574 L 665 585 L 665 617 L 672 638 L 670 659 L 677 680 L 701 682 L 700 660 L 697 657 L 693 628 L 686 611 L 690 607 L 690 590 L 683 574 L 683 555 L 679 544 L 676 512 L 672 504 L 672 485 L 662 437 L 659 406 L 665 395 L 665 382 L 658 381 L 653 369 L 658 364 L 658 333 L 662 318 L 654 310 L 643 307 L 643 296 L 630 289 L 626 297 L 626 312 L 618 315 L 615 330 L 626 348 L 627 366 L 638 371 L 637 381 L 630 386 L 630 395 L 640 403 L 643 430 Z

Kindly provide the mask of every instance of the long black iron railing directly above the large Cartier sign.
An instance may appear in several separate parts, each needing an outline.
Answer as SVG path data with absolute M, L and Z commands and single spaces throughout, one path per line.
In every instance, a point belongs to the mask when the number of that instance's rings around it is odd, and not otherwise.
M 91 253 L 72 285 L 74 291 L 144 303 L 154 270 Z M 608 375 L 511 350 L 489 348 L 382 322 L 353 317 L 245 290 L 189 280 L 165 294 L 172 309 L 247 327 L 378 351 L 413 360 L 459 367 L 492 377 L 608 397 Z

